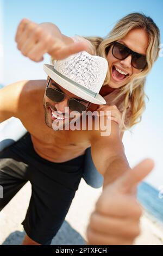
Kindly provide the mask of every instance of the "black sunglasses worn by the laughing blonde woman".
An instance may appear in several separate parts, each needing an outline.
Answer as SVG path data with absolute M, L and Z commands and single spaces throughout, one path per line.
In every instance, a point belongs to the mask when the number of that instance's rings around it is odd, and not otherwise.
M 125 45 L 120 44 L 120 42 L 114 42 L 112 47 L 112 55 L 116 59 L 126 59 L 131 54 L 131 65 L 134 66 L 135 69 L 145 69 L 147 66 L 147 59 L 145 55 L 134 52 L 130 50 Z

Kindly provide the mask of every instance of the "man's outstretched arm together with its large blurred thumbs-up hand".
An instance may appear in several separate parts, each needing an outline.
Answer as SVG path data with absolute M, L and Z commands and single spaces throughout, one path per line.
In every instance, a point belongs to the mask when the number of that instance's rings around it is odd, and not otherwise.
M 92 157 L 104 176 L 104 186 L 87 226 L 88 245 L 132 245 L 140 234 L 142 209 L 133 197 L 137 184 L 152 170 L 153 161 L 145 160 L 129 168 L 119 137 L 118 125 L 111 122 L 111 135 L 92 132 Z M 119 176 L 119 177 L 118 177 Z

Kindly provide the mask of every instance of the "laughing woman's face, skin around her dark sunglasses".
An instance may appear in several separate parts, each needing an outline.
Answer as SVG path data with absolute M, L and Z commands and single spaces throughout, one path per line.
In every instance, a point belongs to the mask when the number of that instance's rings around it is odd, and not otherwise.
M 148 35 L 143 29 L 133 29 L 131 30 L 123 39 L 117 40 L 121 44 L 126 45 L 128 48 L 134 52 L 146 55 L 148 47 Z M 112 47 L 108 52 L 107 60 L 110 70 L 110 81 L 109 86 L 111 88 L 119 88 L 124 86 L 130 81 L 130 78 L 134 74 L 140 73 L 142 70 L 136 69 L 131 65 L 131 55 L 126 59 L 119 60 L 112 55 Z M 116 68 L 116 69 L 115 69 Z M 127 77 L 122 78 L 121 75 L 118 76 L 117 69 L 129 74 Z

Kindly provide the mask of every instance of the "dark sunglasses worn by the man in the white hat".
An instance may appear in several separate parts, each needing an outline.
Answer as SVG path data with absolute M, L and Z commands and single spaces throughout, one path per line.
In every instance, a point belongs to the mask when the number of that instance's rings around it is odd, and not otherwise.
M 49 78 L 47 86 L 46 86 L 46 96 L 50 100 L 58 103 L 58 102 L 64 101 L 65 97 L 67 96 L 67 97 L 69 97 L 68 102 L 67 102 L 68 107 L 71 109 L 71 111 L 78 111 L 79 113 L 86 111 L 86 109 L 89 107 L 90 102 L 89 102 L 88 106 L 85 106 L 83 103 L 79 102 L 78 100 L 71 98 L 70 96 L 68 96 L 67 94 L 65 94 L 63 92 L 60 92 L 59 89 L 48 87 L 50 81 L 51 81 L 51 78 Z

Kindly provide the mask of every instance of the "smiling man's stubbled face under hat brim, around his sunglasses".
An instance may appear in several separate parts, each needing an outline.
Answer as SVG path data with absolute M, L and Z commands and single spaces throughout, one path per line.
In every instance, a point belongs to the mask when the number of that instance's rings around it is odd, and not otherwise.
M 66 94 L 65 99 L 61 102 L 54 102 L 49 97 L 46 96 L 46 93 L 43 97 L 43 107 L 45 109 L 45 123 L 48 127 L 52 128 L 52 124 L 55 120 L 59 120 L 62 123 L 65 123 L 66 118 L 68 119 L 68 113 L 70 114 L 72 110 L 68 108 L 68 100 L 75 99 L 85 105 L 89 105 L 89 101 L 83 100 L 82 98 L 68 92 L 66 89 L 62 88 L 58 83 L 54 82 L 52 79 L 49 81 L 48 88 L 57 89 L 59 92 Z M 80 114 L 82 115 L 82 114 Z M 69 121 L 71 118 L 69 118 Z

